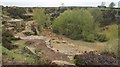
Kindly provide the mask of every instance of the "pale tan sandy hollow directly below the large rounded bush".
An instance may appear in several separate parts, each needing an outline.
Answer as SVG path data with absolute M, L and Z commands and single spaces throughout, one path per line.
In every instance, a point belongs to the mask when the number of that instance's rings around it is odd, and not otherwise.
M 102 43 L 88 43 L 81 40 L 71 40 L 62 35 L 56 35 L 49 30 L 43 31 L 42 35 L 46 37 L 46 40 L 51 40 L 52 48 L 64 54 L 75 55 L 85 51 L 96 51 L 103 48 Z

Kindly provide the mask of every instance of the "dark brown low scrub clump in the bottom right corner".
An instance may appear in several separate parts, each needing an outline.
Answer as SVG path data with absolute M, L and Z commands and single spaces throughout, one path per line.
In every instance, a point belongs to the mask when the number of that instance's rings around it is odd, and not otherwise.
M 97 54 L 93 51 L 82 55 L 75 55 L 76 65 L 118 65 L 118 59 L 114 54 Z

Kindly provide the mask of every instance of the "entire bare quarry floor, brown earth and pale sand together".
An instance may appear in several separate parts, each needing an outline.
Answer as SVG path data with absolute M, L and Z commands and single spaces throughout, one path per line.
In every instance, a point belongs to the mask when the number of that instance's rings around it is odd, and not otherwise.
M 22 33 L 17 34 L 17 36 L 20 36 L 25 42 L 32 42 L 31 44 L 26 44 L 27 46 L 41 49 L 41 55 L 46 60 L 57 62 L 73 62 L 73 57 L 76 54 L 103 48 L 102 43 L 100 45 L 100 43 L 71 40 L 62 35 L 56 35 L 49 30 L 44 30 L 41 36 L 24 36 Z

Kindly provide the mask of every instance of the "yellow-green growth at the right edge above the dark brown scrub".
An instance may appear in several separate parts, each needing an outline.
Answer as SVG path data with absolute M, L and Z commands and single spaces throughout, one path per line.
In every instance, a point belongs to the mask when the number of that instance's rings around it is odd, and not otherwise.
M 104 34 L 109 38 L 107 44 L 105 45 L 103 51 L 114 52 L 118 54 L 118 25 L 113 24 L 108 26 L 109 29 L 103 31 Z

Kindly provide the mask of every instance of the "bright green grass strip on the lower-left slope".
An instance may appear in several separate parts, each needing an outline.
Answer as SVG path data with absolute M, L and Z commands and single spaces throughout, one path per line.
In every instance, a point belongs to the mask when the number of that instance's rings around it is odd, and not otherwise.
M 16 61 L 25 61 L 28 62 L 29 64 L 33 64 L 34 63 L 34 58 L 33 57 L 29 57 L 29 56 L 25 56 L 23 54 L 19 54 L 17 51 L 19 51 L 19 49 L 23 48 L 24 45 L 21 42 L 21 45 L 18 49 L 15 50 L 8 50 L 2 46 L 0 46 L 0 48 L 2 49 L 2 53 L 6 54 L 7 58 L 15 58 Z

